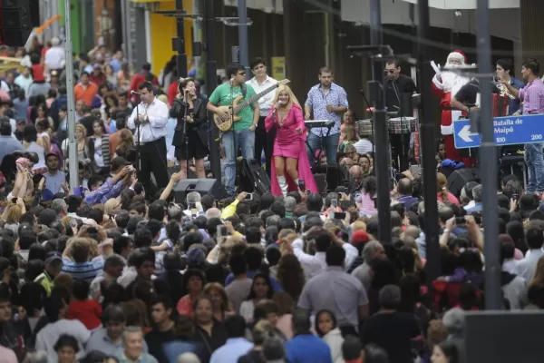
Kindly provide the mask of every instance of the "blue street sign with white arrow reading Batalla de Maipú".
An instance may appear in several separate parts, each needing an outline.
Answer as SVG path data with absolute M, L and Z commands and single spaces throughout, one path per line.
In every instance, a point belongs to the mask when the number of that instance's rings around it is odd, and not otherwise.
M 495 117 L 493 131 L 497 146 L 544 142 L 544 114 Z M 480 147 L 481 135 L 471 132 L 471 120 L 457 120 L 453 122 L 453 140 L 456 149 Z

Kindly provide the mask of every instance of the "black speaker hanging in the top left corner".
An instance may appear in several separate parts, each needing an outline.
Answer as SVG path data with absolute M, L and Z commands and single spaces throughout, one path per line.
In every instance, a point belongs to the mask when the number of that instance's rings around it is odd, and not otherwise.
M 33 29 L 29 0 L 3 0 L 1 6 L 2 43 L 24 46 Z

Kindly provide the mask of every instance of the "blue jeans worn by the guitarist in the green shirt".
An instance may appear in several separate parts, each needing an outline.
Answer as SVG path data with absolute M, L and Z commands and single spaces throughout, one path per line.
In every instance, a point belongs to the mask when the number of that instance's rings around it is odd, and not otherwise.
M 236 157 L 238 147 L 242 150 L 242 157 L 253 160 L 255 156 L 255 132 L 246 129 L 223 133 L 223 147 L 225 148 L 225 190 L 228 195 L 234 195 L 236 191 Z

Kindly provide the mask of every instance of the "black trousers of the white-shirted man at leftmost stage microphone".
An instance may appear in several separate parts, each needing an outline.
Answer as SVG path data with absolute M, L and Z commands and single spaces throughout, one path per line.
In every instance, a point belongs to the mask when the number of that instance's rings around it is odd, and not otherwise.
M 154 197 L 157 190 L 166 188 L 169 182 L 166 139 L 164 137 L 140 145 L 140 165 L 138 181 L 143 184 L 146 195 Z M 151 172 L 155 176 L 157 188 L 151 183 Z

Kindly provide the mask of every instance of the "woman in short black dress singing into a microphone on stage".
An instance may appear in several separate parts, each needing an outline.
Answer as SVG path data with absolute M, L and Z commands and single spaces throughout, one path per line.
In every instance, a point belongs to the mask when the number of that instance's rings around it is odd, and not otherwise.
M 172 145 L 176 147 L 176 159 L 180 162 L 183 178 L 187 178 L 187 161 L 195 160 L 198 178 L 206 178 L 204 158 L 208 155 L 208 111 L 206 100 L 197 96 L 197 87 L 192 78 L 180 78 L 178 95 L 170 109 L 170 117 L 177 118 Z M 185 144 L 183 124 L 187 123 L 188 143 Z M 187 148 L 187 149 L 186 149 Z M 186 155 L 186 152 L 189 152 Z

